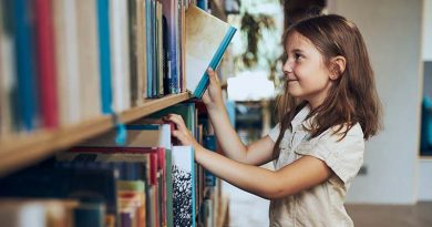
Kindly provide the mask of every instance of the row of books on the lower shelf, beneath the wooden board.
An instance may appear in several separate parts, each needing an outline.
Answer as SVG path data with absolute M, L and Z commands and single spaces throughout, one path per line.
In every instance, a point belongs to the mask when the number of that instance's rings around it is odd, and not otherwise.
M 37 216 L 52 223 L 41 226 L 214 226 L 217 180 L 194 162 L 192 146 L 175 145 L 174 124 L 161 122 L 166 113 L 181 114 L 197 141 L 216 149 L 206 114 L 193 102 L 177 104 L 126 125 L 124 146 L 109 132 L 0 179 L 0 221 L 14 227 Z M 51 220 L 52 206 L 61 207 L 61 220 Z M 27 207 L 37 208 L 29 215 Z

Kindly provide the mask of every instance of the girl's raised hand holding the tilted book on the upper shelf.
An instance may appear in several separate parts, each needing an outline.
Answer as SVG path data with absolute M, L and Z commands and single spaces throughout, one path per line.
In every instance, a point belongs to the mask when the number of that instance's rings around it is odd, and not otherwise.
M 217 109 L 224 105 L 224 100 L 222 99 L 222 90 L 217 74 L 210 68 L 207 70 L 209 78 L 209 84 L 207 90 L 204 92 L 203 102 L 209 110 Z

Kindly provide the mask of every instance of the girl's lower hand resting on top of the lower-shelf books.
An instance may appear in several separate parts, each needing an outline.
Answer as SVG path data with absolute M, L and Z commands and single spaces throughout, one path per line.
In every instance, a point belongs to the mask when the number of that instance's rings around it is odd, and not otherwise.
M 192 135 L 192 133 L 187 130 L 185 122 L 183 121 L 183 117 L 178 114 L 168 114 L 163 117 L 164 121 L 173 122 L 176 125 L 176 130 L 173 132 L 173 136 L 176 137 L 182 145 L 185 146 L 193 146 L 196 151 L 200 147 L 200 144 L 196 142 L 195 137 Z

